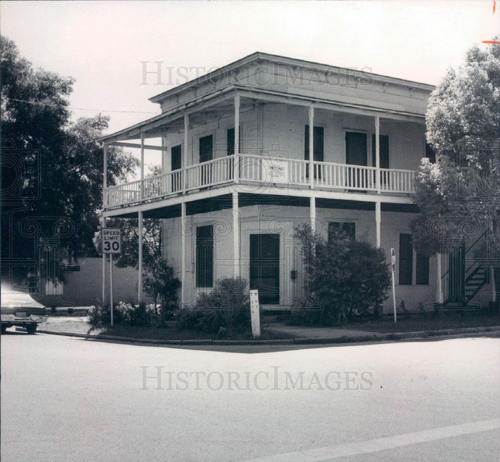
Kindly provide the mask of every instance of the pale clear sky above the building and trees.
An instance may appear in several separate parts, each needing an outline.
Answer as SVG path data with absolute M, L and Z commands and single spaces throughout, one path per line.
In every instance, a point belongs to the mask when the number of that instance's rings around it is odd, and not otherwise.
M 437 84 L 498 33 L 493 3 L 0 1 L 0 32 L 34 66 L 74 77 L 73 118 L 108 114 L 112 133 L 158 114 L 149 97 L 254 51 Z M 141 84 L 155 61 L 161 84 Z

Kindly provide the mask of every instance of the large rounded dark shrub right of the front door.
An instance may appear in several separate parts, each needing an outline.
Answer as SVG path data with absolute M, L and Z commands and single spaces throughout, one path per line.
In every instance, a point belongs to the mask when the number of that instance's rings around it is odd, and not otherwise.
M 302 244 L 305 295 L 301 318 L 322 325 L 373 314 L 387 298 L 390 273 L 382 249 L 333 230 L 328 242 L 307 226 L 296 229 Z M 319 314 L 311 308 L 318 308 Z

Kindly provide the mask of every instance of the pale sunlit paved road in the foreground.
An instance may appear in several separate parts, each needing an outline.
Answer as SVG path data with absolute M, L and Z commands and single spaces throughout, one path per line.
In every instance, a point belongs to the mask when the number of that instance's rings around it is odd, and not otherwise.
M 221 351 L 11 333 L 1 460 L 496 461 L 499 358 L 495 338 Z

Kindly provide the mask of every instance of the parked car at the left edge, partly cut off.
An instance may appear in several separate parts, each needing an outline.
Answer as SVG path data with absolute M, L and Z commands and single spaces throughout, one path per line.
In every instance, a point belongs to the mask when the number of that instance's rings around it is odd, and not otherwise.
M 28 294 L 1 286 L 1 333 L 7 327 L 26 328 L 28 334 L 34 334 L 36 326 L 47 320 L 45 307 L 35 302 Z

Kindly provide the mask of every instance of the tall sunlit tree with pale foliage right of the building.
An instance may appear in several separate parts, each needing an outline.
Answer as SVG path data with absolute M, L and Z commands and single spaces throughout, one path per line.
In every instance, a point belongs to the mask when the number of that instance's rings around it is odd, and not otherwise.
M 495 40 L 498 40 L 496 38 Z M 438 161 L 423 159 L 412 222 L 415 247 L 429 255 L 486 231 L 482 257 L 500 290 L 500 45 L 473 46 L 432 92 L 426 136 Z

